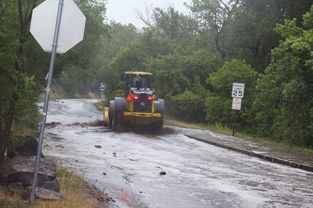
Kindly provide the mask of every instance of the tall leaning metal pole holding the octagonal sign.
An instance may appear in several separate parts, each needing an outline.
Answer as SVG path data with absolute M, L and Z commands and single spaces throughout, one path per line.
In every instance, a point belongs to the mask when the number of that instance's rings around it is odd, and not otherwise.
M 47 111 L 48 111 L 50 86 L 51 86 L 51 82 L 52 82 L 53 70 L 54 70 L 55 58 L 56 58 L 56 52 L 57 52 L 57 45 L 58 45 L 58 38 L 59 38 L 59 32 L 60 32 L 63 4 L 64 4 L 64 0 L 59 0 L 57 22 L 56 22 L 55 35 L 54 35 L 53 47 L 52 47 L 52 51 L 51 51 L 50 66 L 49 66 L 49 73 L 48 73 L 48 83 L 47 83 L 47 88 L 46 88 L 45 97 L 44 97 L 44 105 L 43 105 L 43 111 L 42 111 L 40 134 L 39 134 L 39 141 L 38 141 L 38 146 L 37 146 L 36 162 L 35 162 L 35 167 L 34 167 L 34 177 L 33 177 L 32 186 L 31 186 L 31 193 L 30 193 L 30 203 L 31 204 L 34 203 L 34 201 L 35 201 L 35 191 L 36 191 L 36 184 L 37 184 L 37 177 L 38 177 L 38 168 L 39 168 L 39 162 L 40 162 L 40 154 L 41 154 L 41 148 L 42 148 L 42 140 L 43 140 L 45 121 L 46 121 L 46 116 L 47 116 Z

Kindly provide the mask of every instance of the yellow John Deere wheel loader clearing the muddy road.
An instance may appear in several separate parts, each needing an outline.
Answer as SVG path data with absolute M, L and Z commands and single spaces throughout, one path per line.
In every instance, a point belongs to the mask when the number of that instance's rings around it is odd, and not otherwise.
M 151 87 L 152 74 L 125 72 L 121 81 L 125 81 L 124 90 L 118 90 L 114 101 L 105 108 L 103 123 L 114 131 L 124 131 L 126 125 L 140 125 L 155 133 L 163 132 L 165 105 Z

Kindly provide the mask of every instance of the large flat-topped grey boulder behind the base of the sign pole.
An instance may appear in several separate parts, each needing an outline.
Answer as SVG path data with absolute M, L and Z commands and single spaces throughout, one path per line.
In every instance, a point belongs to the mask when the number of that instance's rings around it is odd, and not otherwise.
M 6 183 L 21 182 L 30 186 L 33 180 L 35 156 L 14 157 L 0 165 L 0 176 Z M 56 180 L 56 163 L 51 159 L 40 159 L 37 184 Z

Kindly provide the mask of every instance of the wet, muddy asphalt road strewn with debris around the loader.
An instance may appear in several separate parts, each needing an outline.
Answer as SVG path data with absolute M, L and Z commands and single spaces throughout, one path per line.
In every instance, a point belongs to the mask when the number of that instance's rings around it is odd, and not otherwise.
M 202 130 L 168 127 L 153 135 L 82 127 L 103 117 L 93 102 L 50 102 L 47 122 L 62 124 L 46 128 L 43 153 L 84 174 L 119 207 L 313 207 L 312 173 L 183 135 Z

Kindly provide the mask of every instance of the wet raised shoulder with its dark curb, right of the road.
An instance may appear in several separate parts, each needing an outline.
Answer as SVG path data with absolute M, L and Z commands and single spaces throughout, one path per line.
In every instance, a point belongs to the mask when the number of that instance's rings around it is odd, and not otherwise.
M 188 125 L 180 121 L 175 122 L 175 120 L 170 120 L 170 122 L 168 121 L 167 125 L 202 129 L 201 132 L 192 134 L 188 133 L 185 134 L 185 136 L 220 148 L 264 159 L 269 162 L 313 172 L 313 153 L 311 151 L 299 151 L 296 148 L 290 149 L 267 145 L 258 141 L 251 141 L 245 138 L 215 133 L 213 131 L 206 130 L 201 125 Z

